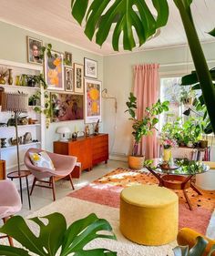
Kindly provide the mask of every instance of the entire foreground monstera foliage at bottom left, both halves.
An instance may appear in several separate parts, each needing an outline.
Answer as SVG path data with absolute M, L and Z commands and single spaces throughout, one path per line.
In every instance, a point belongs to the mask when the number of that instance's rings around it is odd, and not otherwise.
M 45 224 L 43 219 L 46 219 L 48 223 Z M 58 212 L 30 220 L 39 227 L 38 235 L 35 235 L 29 229 L 26 220 L 21 216 L 14 216 L 6 221 L 0 231 L 14 238 L 25 249 L 0 245 L 0 255 L 29 256 L 32 255 L 30 253 L 36 253 L 39 256 L 67 256 L 71 254 L 74 256 L 117 255 L 117 252 L 104 248 L 84 249 L 90 241 L 97 238 L 116 240 L 116 236 L 113 234 L 107 220 L 98 219 L 94 213 L 84 219 L 73 222 L 68 228 L 65 217 Z M 107 231 L 109 234 L 107 234 Z

